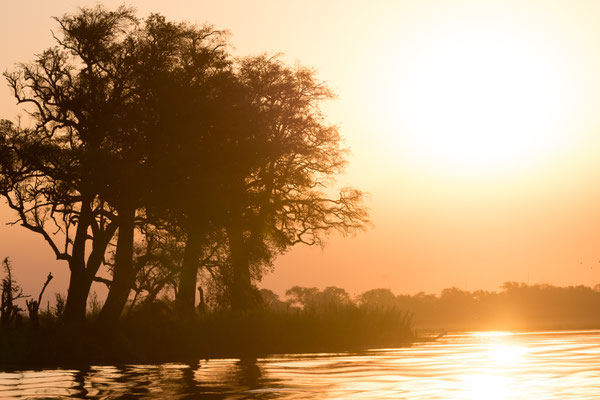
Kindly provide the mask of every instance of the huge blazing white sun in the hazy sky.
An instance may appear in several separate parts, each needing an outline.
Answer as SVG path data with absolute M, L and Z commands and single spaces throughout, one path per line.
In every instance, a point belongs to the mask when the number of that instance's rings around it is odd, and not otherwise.
M 437 172 L 522 170 L 564 152 L 580 76 L 560 36 L 512 16 L 449 17 L 403 38 L 379 117 L 404 159 Z

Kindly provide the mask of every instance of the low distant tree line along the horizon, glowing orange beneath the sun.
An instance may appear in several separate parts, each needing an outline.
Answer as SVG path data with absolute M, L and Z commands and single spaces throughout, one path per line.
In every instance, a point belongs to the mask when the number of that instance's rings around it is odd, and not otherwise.
M 300 309 L 323 313 L 348 308 L 377 315 L 399 312 L 412 316 L 420 329 L 527 330 L 597 329 L 600 327 L 600 285 L 557 287 L 505 282 L 499 291 L 466 291 L 455 287 L 439 295 L 395 295 L 390 289 L 371 289 L 351 297 L 344 289 L 294 286 L 286 299 L 261 289 L 272 310 Z M 333 312 L 331 312 L 333 314 Z

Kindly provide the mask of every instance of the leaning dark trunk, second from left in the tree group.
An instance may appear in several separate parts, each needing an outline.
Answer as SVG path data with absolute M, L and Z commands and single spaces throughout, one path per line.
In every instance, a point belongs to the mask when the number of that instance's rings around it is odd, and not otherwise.
M 133 233 L 135 230 L 135 208 L 123 206 L 118 209 L 119 236 L 113 270 L 112 284 L 100 311 L 98 321 L 101 325 L 112 326 L 121 317 L 133 287 L 135 271 L 133 268 Z

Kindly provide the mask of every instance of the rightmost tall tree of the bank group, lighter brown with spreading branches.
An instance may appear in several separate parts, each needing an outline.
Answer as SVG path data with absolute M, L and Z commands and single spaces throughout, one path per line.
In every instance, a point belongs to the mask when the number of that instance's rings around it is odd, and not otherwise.
M 232 171 L 225 196 L 230 302 L 242 310 L 252 307 L 252 282 L 277 255 L 300 243 L 322 245 L 330 231 L 353 232 L 368 221 L 362 192 L 325 194 L 345 150 L 320 111 L 332 93 L 314 71 L 259 56 L 242 60 L 237 73 L 261 121 L 251 147 L 258 162 L 236 163 L 242 168 Z

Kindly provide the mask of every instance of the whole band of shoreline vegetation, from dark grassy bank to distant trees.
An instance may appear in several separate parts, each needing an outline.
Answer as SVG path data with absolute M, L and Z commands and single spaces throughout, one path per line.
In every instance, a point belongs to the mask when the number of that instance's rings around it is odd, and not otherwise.
M 344 289 L 294 286 L 281 300 L 261 289 L 244 312 L 207 296 L 182 320 L 161 298 L 126 309 L 110 330 L 97 323 L 101 304 L 90 299 L 86 323 L 61 320 L 64 299 L 33 323 L 18 313 L 0 328 L 3 369 L 106 364 L 255 359 L 272 354 L 352 352 L 410 346 L 459 331 L 598 329 L 600 286 L 555 287 L 507 282 L 498 292 L 443 290 L 440 295 L 394 295 L 373 289 L 352 297 Z M 131 306 L 131 302 L 129 306 Z

